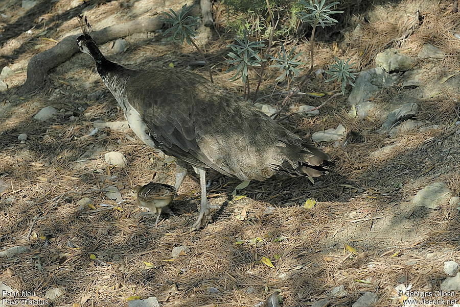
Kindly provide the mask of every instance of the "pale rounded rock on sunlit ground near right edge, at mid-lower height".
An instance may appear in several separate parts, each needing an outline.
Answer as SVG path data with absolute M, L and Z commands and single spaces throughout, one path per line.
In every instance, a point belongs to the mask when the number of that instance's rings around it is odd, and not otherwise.
M 416 206 L 435 209 L 442 204 L 446 204 L 451 196 L 452 191 L 445 183 L 435 182 L 420 190 L 412 199 L 412 203 Z

